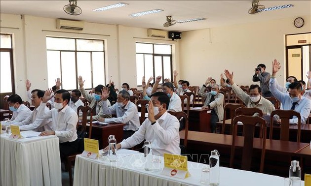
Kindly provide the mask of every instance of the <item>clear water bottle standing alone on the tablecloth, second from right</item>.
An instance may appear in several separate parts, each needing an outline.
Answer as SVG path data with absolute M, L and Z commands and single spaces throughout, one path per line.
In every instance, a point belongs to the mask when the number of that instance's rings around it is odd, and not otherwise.
M 217 150 L 211 151 L 209 157 L 209 185 L 219 186 L 219 153 Z

